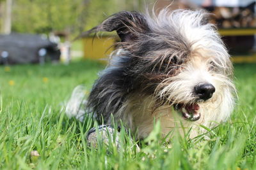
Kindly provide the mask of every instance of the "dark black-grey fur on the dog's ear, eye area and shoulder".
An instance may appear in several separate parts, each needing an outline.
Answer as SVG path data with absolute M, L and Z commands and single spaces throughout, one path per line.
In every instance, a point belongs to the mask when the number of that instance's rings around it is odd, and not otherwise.
M 171 28 L 166 34 L 149 25 L 145 15 L 122 11 L 93 28 L 116 31 L 122 39 L 118 43 L 122 54 L 113 56 L 118 61 L 100 75 L 88 98 L 88 108 L 97 113 L 99 120 L 104 117 L 108 121 L 132 94 L 154 95 L 157 85 L 179 73 L 188 60 L 191 50 L 183 36 L 174 31 L 172 34 Z

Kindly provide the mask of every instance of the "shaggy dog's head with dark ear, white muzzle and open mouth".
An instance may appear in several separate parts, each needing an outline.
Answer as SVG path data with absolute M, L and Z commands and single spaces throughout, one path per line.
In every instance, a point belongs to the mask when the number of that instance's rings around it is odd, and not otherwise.
M 114 57 L 123 56 L 118 64 L 126 68 L 127 91 L 152 95 L 156 106 L 173 106 L 186 120 L 207 111 L 213 120 L 229 116 L 232 63 L 204 11 L 162 10 L 157 16 L 122 11 L 93 30 L 120 37 L 122 50 Z

